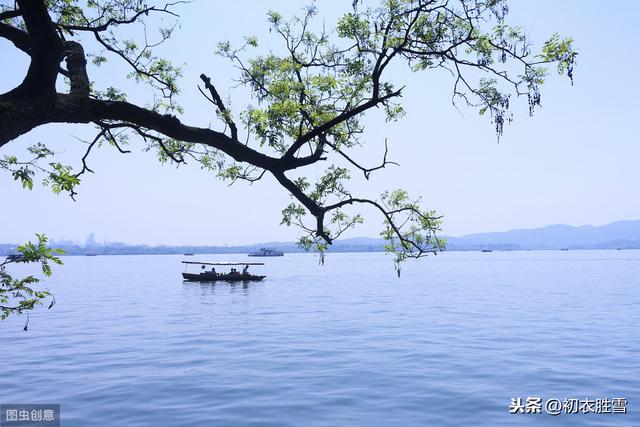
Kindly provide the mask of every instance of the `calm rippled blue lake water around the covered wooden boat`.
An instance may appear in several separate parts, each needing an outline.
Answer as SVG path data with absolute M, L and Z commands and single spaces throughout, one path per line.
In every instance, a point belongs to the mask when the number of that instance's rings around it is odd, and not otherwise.
M 181 256 L 67 257 L 57 305 L 0 323 L 0 402 L 63 426 L 640 425 L 640 251 L 266 259 L 249 285 Z M 196 256 L 202 260 L 244 256 Z M 627 415 L 509 415 L 511 397 Z

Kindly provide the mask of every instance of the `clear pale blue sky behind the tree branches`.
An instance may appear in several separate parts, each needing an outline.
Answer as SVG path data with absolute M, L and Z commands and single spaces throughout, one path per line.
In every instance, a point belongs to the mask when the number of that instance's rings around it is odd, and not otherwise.
M 258 52 L 277 50 L 280 43 L 268 32 L 266 12 L 287 15 L 304 4 L 196 0 L 181 7 L 181 28 L 162 49 L 183 66 L 183 122 L 217 126 L 210 104 L 197 90 L 200 73 L 212 77 L 232 106 L 239 109 L 247 102 L 233 89 L 233 68 L 214 55 L 219 41 L 239 43 L 245 35 L 256 35 Z M 351 2 L 316 4 L 330 28 Z M 542 108 L 529 117 L 526 99 L 521 100 L 499 143 L 486 117 L 452 106 L 447 75 L 394 68 L 391 79 L 406 85 L 402 102 L 407 114 L 392 124 L 368 117 L 367 145 L 356 156 L 363 163 L 378 163 L 387 138 L 389 160 L 400 166 L 370 181 L 356 179 L 354 193 L 375 197 L 406 188 L 443 215 L 443 234 L 452 236 L 640 219 L 640 89 L 634 82 L 640 69 L 639 15 L 640 2 L 632 0 L 607 7 L 584 0 L 512 1 L 508 21 L 524 27 L 537 46 L 559 32 L 575 39 L 579 56 L 575 84 L 551 75 L 542 89 Z M 0 57 L 8 58 L 0 77 L 4 92 L 21 81 L 28 62 L 3 39 Z M 90 78 L 103 87 L 122 85 L 139 104 L 149 102 L 146 89 L 123 83 L 117 72 L 122 70 L 116 66 Z M 21 154 L 27 145 L 44 142 L 77 167 L 84 151 L 78 138 L 92 135 L 90 125 L 47 125 L 5 145 L 0 155 Z M 95 174 L 83 177 L 76 202 L 47 189 L 23 190 L 9 174 L 0 176 L 0 242 L 23 242 L 35 232 L 79 242 L 93 232 L 99 242 L 152 245 L 232 245 L 298 236 L 298 230 L 279 225 L 289 197 L 271 177 L 229 187 L 197 165 L 176 169 L 160 165 L 142 144 L 129 148 L 133 153 L 128 155 L 109 147 L 92 154 L 89 165 Z M 380 218 L 363 213 L 365 223 L 346 237 L 377 236 Z

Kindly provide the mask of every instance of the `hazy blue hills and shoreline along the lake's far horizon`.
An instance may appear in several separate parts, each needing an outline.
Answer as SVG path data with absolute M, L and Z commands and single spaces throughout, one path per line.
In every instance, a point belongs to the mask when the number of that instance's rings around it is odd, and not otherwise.
M 640 249 L 640 221 L 616 221 L 594 227 L 557 224 L 542 228 L 518 229 L 495 233 L 475 233 L 462 237 L 442 236 L 448 251 L 525 250 L 525 249 Z M 355 237 L 337 240 L 330 252 L 382 252 L 384 240 Z M 293 242 L 266 242 L 239 246 L 145 246 L 122 243 L 94 246 L 56 245 L 69 255 L 135 254 L 248 254 L 259 248 L 276 248 L 284 252 L 304 252 Z M 15 253 L 15 244 L 0 244 L 0 256 Z

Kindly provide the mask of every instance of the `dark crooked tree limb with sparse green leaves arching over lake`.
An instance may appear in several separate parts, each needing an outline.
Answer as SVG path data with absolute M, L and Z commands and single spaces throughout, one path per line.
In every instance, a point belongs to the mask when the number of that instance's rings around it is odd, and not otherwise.
M 42 174 L 54 192 L 75 197 L 82 175 L 92 172 L 95 148 L 111 145 L 124 153 L 139 142 L 162 162 L 195 163 L 223 180 L 253 182 L 271 175 L 292 197 L 282 224 L 300 228 L 302 246 L 322 253 L 362 222 L 358 207 L 372 208 L 382 216 L 381 236 L 399 272 L 406 258 L 443 247 L 436 236 L 440 216 L 402 189 L 369 199 L 348 186 L 354 173 L 368 179 L 393 163 L 386 144 L 377 165 L 363 165 L 354 156 L 367 150 L 367 112 L 384 111 L 387 121 L 402 118 L 400 99 L 407 89 L 389 72 L 392 64 L 416 73 L 447 70 L 454 103 L 486 115 L 498 138 L 512 120 L 514 100 L 525 100 L 530 114 L 540 105 L 549 66 L 573 79 L 572 40 L 553 34 L 535 51 L 525 30 L 507 23 L 506 0 L 381 0 L 375 7 L 356 0 L 331 29 L 315 25 L 315 4 L 299 17 L 269 12 L 267 24 L 282 54 L 261 50 L 252 36 L 240 46 L 220 42 L 217 54 L 235 65 L 253 98 L 251 105 L 231 109 L 210 70 L 202 70 L 199 82 L 185 82 L 180 67 L 155 53 L 171 38 L 180 8 L 198 7 L 185 3 L 0 0 L 0 37 L 30 58 L 23 81 L 0 95 L 0 147 L 8 149 L 47 123 L 96 128 L 78 168 L 57 162 L 40 143 L 29 147 L 31 158 L 5 155 L 0 168 L 27 188 Z M 147 37 L 156 16 L 169 24 Z M 145 36 L 129 38 L 131 26 L 143 26 Z M 151 88 L 145 105 L 129 102 L 113 79 L 92 79 L 107 61 L 128 67 L 122 79 Z M 178 104 L 178 93 L 196 85 L 215 112 L 213 126 L 190 123 L 188 109 Z M 324 170 L 319 178 L 306 174 L 318 167 Z

